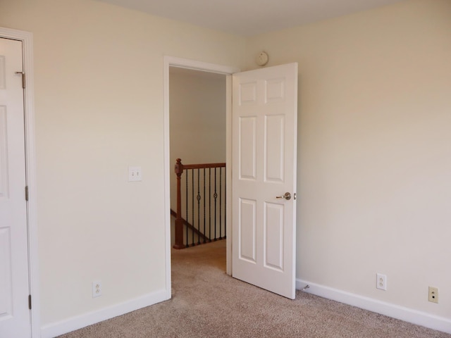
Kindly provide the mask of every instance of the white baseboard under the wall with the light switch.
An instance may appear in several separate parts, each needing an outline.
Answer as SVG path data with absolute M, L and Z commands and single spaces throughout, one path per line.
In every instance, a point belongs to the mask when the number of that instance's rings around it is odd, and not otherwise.
M 152 292 L 152 294 L 141 296 L 137 299 L 132 299 L 130 301 L 109 306 L 108 308 L 101 308 L 98 311 L 61 320 L 61 322 L 44 325 L 41 327 L 41 338 L 53 338 L 61 334 L 81 329 L 82 327 L 86 327 L 88 325 L 99 323 L 103 320 L 117 317 L 118 315 L 123 315 L 161 301 L 166 301 L 167 299 L 168 292 L 166 292 L 166 289 L 163 289 L 157 292 Z

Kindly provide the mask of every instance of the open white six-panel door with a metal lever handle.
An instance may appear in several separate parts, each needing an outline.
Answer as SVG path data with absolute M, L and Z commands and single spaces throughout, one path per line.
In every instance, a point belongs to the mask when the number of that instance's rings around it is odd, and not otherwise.
M 295 299 L 297 63 L 233 75 L 233 277 Z

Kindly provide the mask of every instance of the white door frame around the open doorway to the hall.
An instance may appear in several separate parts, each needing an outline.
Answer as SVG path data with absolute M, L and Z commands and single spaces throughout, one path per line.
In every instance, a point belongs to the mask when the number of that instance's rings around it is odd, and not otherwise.
M 164 131 L 163 131 L 163 151 L 164 151 L 164 223 L 166 227 L 166 292 L 168 292 L 168 299 L 171 298 L 171 189 L 170 189 L 170 175 L 173 174 L 171 170 L 174 163 L 171 163 L 169 158 L 169 67 L 189 68 L 192 70 L 202 70 L 210 73 L 224 74 L 226 76 L 226 165 L 227 168 L 227 185 L 226 203 L 227 221 L 226 221 L 226 237 L 227 241 L 227 273 L 232 274 L 232 74 L 240 71 L 239 68 L 230 67 L 226 65 L 216 65 L 214 63 L 205 63 L 201 61 L 189 60 L 186 58 L 175 58 L 173 56 L 164 56 L 163 58 L 163 107 L 164 107 Z

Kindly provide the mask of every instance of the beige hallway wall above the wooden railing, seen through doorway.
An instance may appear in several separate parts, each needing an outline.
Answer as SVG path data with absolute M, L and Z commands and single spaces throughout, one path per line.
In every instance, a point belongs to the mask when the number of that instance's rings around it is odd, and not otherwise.
M 226 162 L 226 75 L 171 68 L 171 164 Z

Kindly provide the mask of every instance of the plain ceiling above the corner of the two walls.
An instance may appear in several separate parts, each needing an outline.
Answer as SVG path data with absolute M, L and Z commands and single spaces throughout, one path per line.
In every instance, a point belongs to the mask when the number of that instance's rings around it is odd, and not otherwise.
M 99 0 L 249 37 L 402 0 Z

